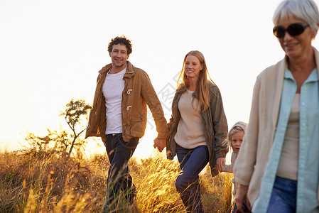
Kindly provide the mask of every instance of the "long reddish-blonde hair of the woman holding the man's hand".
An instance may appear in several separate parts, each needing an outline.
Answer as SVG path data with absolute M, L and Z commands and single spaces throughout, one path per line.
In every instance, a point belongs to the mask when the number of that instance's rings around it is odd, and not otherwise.
M 190 51 L 185 55 L 184 62 L 183 62 L 183 69 L 180 72 L 178 77 L 178 82 L 180 82 L 180 77 L 182 77 L 182 82 L 178 83 L 178 88 L 180 87 L 189 87 L 188 77 L 185 75 L 185 60 L 188 55 L 194 55 L 200 60 L 200 64 L 202 65 L 202 70 L 200 70 L 200 75 L 198 77 L 198 82 L 196 84 L 196 93 L 198 94 L 198 103 L 202 107 L 202 111 L 207 110 L 210 105 L 210 85 L 209 82 L 215 84 L 212 79 L 210 78 L 210 74 L 208 73 L 206 61 L 204 55 L 200 53 L 198 50 Z M 208 80 L 209 78 L 209 80 Z

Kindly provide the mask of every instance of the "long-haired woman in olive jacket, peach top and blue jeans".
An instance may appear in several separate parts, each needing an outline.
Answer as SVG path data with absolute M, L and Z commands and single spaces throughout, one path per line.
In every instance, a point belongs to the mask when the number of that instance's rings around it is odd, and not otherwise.
M 187 212 L 204 212 L 198 174 L 210 163 L 212 176 L 225 165 L 227 120 L 218 87 L 207 79 L 204 55 L 190 51 L 180 72 L 168 124 L 167 153 L 177 155 L 180 175 L 175 187 Z

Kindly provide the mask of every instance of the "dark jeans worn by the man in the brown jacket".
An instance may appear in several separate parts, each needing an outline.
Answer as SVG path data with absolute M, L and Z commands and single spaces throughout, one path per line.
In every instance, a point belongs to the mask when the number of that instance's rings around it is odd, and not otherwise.
M 106 148 L 109 157 L 109 173 L 107 175 L 106 205 L 117 204 L 120 190 L 124 192 L 126 200 L 132 202 L 136 194 L 136 187 L 129 175 L 129 159 L 133 155 L 139 138 L 123 141 L 121 133 L 106 135 Z

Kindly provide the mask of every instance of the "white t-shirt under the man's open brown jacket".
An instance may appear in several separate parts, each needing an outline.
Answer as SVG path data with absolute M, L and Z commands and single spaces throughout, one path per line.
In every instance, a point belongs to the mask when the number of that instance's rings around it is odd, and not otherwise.
M 107 73 L 102 92 L 105 97 L 105 106 L 107 107 L 107 129 L 106 134 L 121 133 L 121 97 L 124 89 L 123 76 L 126 67 L 121 72 Z

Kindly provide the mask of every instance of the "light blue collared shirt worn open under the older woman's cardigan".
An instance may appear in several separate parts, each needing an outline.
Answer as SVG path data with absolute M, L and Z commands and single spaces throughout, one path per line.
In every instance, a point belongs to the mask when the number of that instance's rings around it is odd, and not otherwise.
M 296 94 L 297 84 L 286 67 L 279 119 L 277 122 L 274 143 L 271 147 L 269 163 L 261 182 L 259 197 L 254 202 L 252 212 L 266 212 L 274 186 L 281 148 L 285 137 L 291 104 Z M 296 212 L 319 212 L 319 83 L 317 68 L 311 72 L 301 86 L 299 120 L 299 160 Z

